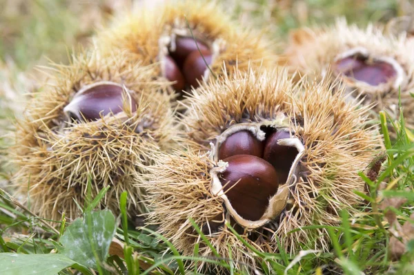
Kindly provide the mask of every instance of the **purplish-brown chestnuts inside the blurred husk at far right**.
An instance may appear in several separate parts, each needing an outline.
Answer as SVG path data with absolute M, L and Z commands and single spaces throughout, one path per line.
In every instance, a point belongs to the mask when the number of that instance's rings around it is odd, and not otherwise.
M 385 61 L 375 61 L 363 55 L 339 59 L 334 65 L 337 73 L 343 73 L 360 82 L 377 86 L 388 82 L 397 75 L 395 68 Z

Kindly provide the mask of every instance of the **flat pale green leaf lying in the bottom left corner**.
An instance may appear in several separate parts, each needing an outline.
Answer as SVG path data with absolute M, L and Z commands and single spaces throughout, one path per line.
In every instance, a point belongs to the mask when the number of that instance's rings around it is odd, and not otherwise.
M 74 267 L 84 274 L 90 274 L 86 267 L 61 254 L 15 254 L 0 253 L 0 274 L 54 275 L 67 267 Z

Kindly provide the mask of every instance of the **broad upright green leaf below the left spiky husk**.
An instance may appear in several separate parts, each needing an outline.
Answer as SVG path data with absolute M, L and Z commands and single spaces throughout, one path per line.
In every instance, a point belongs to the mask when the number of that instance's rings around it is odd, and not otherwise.
M 86 213 L 87 218 L 77 218 L 60 238 L 61 254 L 72 260 L 97 269 L 108 256 L 112 238 L 115 236 L 115 217 L 109 210 Z

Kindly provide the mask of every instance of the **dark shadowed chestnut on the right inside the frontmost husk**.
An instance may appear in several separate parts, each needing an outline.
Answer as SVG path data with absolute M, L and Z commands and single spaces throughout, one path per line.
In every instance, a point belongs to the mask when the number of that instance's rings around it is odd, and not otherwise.
M 296 155 L 299 153 L 295 147 L 277 144 L 279 140 L 284 138 L 290 138 L 290 134 L 285 131 L 277 131 L 270 134 L 266 138 L 263 153 L 264 160 L 275 167 L 279 176 L 279 182 L 282 183 L 288 179 L 290 167 L 292 167 Z

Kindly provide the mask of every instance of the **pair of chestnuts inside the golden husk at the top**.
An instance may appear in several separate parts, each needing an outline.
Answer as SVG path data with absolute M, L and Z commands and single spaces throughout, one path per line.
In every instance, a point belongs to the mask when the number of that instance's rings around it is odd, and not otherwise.
M 212 54 L 206 44 L 193 37 L 177 37 L 164 60 L 165 76 L 175 82 L 172 88 L 179 92 L 190 86 L 199 86 L 197 81 L 201 81 L 207 66 L 211 64 Z

